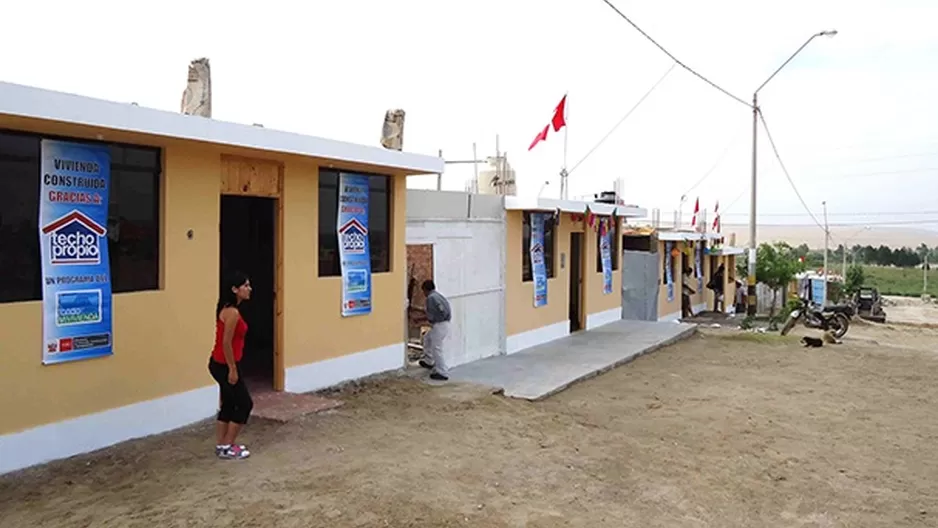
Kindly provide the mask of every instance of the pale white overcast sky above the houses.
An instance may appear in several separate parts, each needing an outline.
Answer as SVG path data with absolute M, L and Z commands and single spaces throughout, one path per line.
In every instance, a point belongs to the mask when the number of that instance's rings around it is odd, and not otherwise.
M 832 224 L 938 229 L 938 2 L 613 3 L 746 101 L 836 29 L 759 94 L 794 188 Z M 751 110 L 680 67 L 583 159 L 672 64 L 603 0 L 6 4 L 3 81 L 178 111 L 189 61 L 208 57 L 216 119 L 378 145 L 385 111 L 402 108 L 405 150 L 467 160 L 475 142 L 482 158 L 498 135 L 518 193 L 544 197 L 559 197 L 566 133 L 567 166 L 583 160 L 571 197 L 621 178 L 626 202 L 663 219 L 699 198 L 748 221 Z M 566 131 L 529 152 L 564 94 Z M 471 175 L 452 165 L 443 188 Z M 758 178 L 760 223 L 813 222 L 761 128 Z

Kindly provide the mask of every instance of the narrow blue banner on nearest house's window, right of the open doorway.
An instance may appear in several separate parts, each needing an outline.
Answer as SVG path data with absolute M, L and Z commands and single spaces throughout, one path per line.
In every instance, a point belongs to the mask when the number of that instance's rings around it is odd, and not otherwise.
M 339 175 L 336 220 L 342 270 L 342 317 L 371 313 L 371 246 L 368 243 L 368 176 Z

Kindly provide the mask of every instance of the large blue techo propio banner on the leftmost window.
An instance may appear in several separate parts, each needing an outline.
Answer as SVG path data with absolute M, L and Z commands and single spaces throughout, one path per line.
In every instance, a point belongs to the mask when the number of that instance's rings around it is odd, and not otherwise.
M 106 146 L 44 139 L 40 173 L 42 362 L 109 356 L 110 151 Z

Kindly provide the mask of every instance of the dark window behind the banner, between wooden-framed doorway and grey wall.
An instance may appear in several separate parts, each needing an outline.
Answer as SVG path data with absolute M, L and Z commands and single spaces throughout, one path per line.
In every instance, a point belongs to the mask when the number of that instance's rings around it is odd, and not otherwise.
M 319 276 L 342 274 L 339 258 L 338 226 L 339 174 L 332 169 L 319 170 Z M 350 173 L 346 173 L 350 174 Z M 362 174 L 362 173 L 356 173 Z M 391 185 L 390 176 L 368 176 L 368 245 L 371 249 L 371 272 L 391 271 Z

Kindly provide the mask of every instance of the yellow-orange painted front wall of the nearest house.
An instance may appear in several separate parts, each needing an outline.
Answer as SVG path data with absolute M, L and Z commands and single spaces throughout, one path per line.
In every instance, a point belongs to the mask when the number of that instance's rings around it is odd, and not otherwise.
M 41 364 L 41 303 L 0 304 L 0 409 L 4 409 L 0 434 L 213 384 L 206 365 L 218 293 L 222 154 L 285 165 L 285 364 L 300 365 L 403 341 L 406 192 L 402 174 L 395 174 L 392 198 L 392 271 L 373 277 L 371 315 L 342 319 L 339 279 L 317 276 L 316 160 L 4 115 L 0 115 L 0 128 L 164 149 L 161 289 L 114 295 L 113 356 L 52 366 Z M 345 167 L 382 172 L 375 167 Z M 195 233 L 193 240 L 186 237 L 190 229 Z M 552 292 L 555 298 L 562 295 L 557 289 Z

